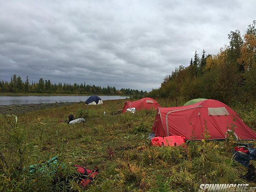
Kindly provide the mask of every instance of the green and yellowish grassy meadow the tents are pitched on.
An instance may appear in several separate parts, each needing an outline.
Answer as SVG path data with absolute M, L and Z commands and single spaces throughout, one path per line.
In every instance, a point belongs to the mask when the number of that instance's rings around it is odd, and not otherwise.
M 111 114 L 124 102 L 46 108 L 18 116 L 17 123 L 11 114 L 0 115 L 0 191 L 194 192 L 201 183 L 248 183 L 240 178 L 247 169 L 232 161 L 232 140 L 150 146 L 147 137 L 156 111 Z M 177 101 L 158 102 L 162 107 L 177 105 Z M 255 108 L 237 104 L 233 109 L 256 131 Z M 84 117 L 85 122 L 67 124 L 69 114 Z M 28 173 L 29 165 L 53 156 L 64 165 L 55 174 L 49 174 L 50 168 Z M 86 188 L 79 187 L 72 177 L 73 164 L 98 168 L 99 174 Z

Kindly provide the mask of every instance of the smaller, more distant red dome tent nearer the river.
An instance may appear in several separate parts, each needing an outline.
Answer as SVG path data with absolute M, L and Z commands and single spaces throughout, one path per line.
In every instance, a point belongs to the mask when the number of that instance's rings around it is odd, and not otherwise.
M 122 108 L 122 113 L 124 113 L 127 108 L 136 108 L 136 111 L 137 111 L 141 109 L 151 109 L 151 108 L 155 108 L 157 110 L 158 107 L 161 107 L 161 106 L 156 100 L 146 97 L 137 101 L 125 101 L 125 104 Z

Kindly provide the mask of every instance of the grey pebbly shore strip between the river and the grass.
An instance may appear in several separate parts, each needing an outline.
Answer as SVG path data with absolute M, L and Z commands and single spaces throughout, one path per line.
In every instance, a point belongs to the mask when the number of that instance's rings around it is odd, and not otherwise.
M 0 105 L 0 114 L 20 115 L 30 111 L 43 108 L 56 108 L 65 105 L 73 105 L 79 102 L 61 102 L 61 103 L 40 103 L 40 104 L 20 104 L 20 105 Z

